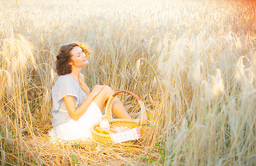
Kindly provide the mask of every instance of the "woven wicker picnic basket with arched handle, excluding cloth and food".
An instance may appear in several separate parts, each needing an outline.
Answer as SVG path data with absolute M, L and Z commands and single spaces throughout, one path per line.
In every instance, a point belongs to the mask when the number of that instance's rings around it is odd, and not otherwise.
M 134 96 L 138 103 L 140 104 L 140 113 L 141 113 L 141 119 L 140 120 L 127 120 L 127 119 L 113 119 L 112 118 L 112 102 L 113 99 L 116 97 L 118 93 L 129 93 L 130 95 Z M 110 128 L 113 127 L 118 127 L 118 126 L 123 126 L 123 127 L 129 127 L 130 129 L 133 129 L 135 127 L 138 127 L 140 130 L 140 134 L 143 138 L 143 135 L 145 134 L 145 125 L 147 124 L 147 119 L 146 119 L 146 113 L 145 113 L 145 106 L 143 102 L 138 98 L 137 95 L 130 91 L 118 91 L 116 93 L 113 93 L 111 98 L 109 98 L 105 110 L 105 115 L 107 116 L 107 119 L 109 120 Z M 109 134 L 103 134 L 103 133 L 98 133 L 95 131 L 95 127 L 100 127 L 100 122 L 97 122 L 91 126 L 91 133 L 93 136 L 93 139 L 105 143 L 105 144 L 112 144 L 113 141 L 111 140 L 111 136 Z

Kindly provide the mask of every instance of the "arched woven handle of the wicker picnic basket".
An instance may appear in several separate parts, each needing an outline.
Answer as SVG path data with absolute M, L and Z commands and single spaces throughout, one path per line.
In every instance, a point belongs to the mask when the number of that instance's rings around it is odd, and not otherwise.
M 107 116 L 107 119 L 108 120 L 113 119 L 112 118 L 112 103 L 118 93 L 129 93 L 130 95 L 134 96 L 134 98 L 136 98 L 136 100 L 138 101 L 138 104 L 140 104 L 140 113 L 141 113 L 140 125 L 147 124 L 147 116 L 146 116 L 145 105 L 143 104 L 143 101 L 141 101 L 140 98 L 138 98 L 138 95 L 136 95 L 130 91 L 117 91 L 116 93 L 113 93 L 113 95 L 109 98 L 109 100 L 107 102 L 107 106 L 106 106 L 105 115 Z

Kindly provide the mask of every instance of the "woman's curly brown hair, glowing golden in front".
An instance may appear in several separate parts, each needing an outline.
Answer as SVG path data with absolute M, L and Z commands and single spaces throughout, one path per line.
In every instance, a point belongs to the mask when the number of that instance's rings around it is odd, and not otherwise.
M 86 57 L 88 57 L 91 52 L 89 51 L 89 47 L 86 46 L 85 44 L 80 44 L 80 43 L 71 43 L 71 44 L 65 44 L 63 46 L 60 47 L 59 53 L 56 56 L 57 60 L 56 60 L 56 72 L 57 74 L 60 75 L 66 75 L 71 73 L 71 65 L 68 64 L 68 62 L 71 61 L 71 50 L 75 47 L 75 46 L 79 46 L 80 48 L 82 48 L 82 51 L 84 52 L 84 54 L 86 55 Z

